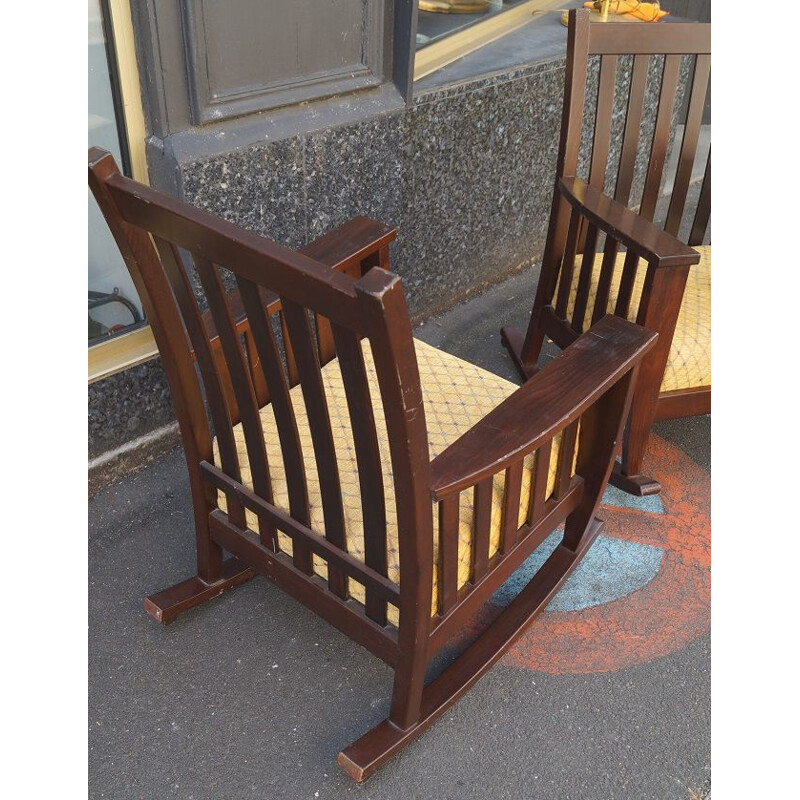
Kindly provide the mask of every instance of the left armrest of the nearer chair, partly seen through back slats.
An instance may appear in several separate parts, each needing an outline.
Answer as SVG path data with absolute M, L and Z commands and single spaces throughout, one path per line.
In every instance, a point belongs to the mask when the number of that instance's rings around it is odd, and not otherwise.
M 382 222 L 370 219 L 369 217 L 353 217 L 344 224 L 329 233 L 314 239 L 300 251 L 304 256 L 313 258 L 325 264 L 331 269 L 345 272 L 352 269 L 354 265 L 360 264 L 364 259 L 374 255 L 383 247 L 397 238 L 397 229 Z M 273 292 L 269 292 L 260 287 L 261 297 L 264 300 L 264 307 L 267 314 L 274 314 L 280 310 L 280 298 Z M 239 325 L 245 320 L 245 313 L 242 300 L 239 297 L 239 290 L 234 289 L 228 293 L 228 303 L 230 305 L 233 321 Z M 208 338 L 217 338 L 217 328 L 211 318 L 211 312 L 205 311 L 202 315 Z

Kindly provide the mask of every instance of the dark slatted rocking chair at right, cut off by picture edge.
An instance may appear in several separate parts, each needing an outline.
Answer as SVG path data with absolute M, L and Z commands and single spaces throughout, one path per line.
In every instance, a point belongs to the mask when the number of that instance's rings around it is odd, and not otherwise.
M 621 146 L 613 148 L 623 55 L 632 55 L 633 65 L 623 97 L 627 110 Z M 648 70 L 657 55 L 664 59 L 649 138 L 641 135 L 642 119 Z M 601 57 L 599 78 L 596 94 L 585 103 L 592 56 Z M 661 229 L 653 219 L 659 196 L 668 193 L 662 186 L 664 162 L 684 56 L 691 59 L 693 80 Z M 588 11 L 570 11 L 556 186 L 542 271 L 527 333 L 502 330 L 503 343 L 524 378 L 536 373 L 546 338 L 564 348 L 606 313 L 658 332 L 658 344 L 642 362 L 622 461 L 611 476 L 611 483 L 637 495 L 661 488 L 642 474 L 653 422 L 711 411 L 711 247 L 703 246 L 711 208 L 710 151 L 693 220 L 684 213 L 710 74 L 710 24 L 590 24 Z M 588 131 L 582 131 L 585 116 Z M 576 177 L 582 139 L 591 142 L 587 180 Z M 637 161 L 646 164 L 640 195 L 632 191 Z M 604 191 L 613 192 L 613 199 Z M 683 228 L 683 242 L 691 247 L 676 238 Z

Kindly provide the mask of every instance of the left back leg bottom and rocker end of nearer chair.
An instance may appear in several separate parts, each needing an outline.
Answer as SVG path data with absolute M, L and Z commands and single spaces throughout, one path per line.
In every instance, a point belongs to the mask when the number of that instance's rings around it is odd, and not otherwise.
M 195 498 L 197 575 L 144 599 L 144 610 L 163 625 L 172 622 L 181 612 L 218 597 L 255 575 L 255 570 L 237 558 L 223 561 L 223 550 L 211 538 L 208 526 L 213 506 L 202 490 L 192 494 Z

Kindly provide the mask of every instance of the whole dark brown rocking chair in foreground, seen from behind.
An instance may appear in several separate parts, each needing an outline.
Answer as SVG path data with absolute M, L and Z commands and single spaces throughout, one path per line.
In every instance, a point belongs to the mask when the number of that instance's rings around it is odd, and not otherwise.
M 357 218 L 295 252 L 129 180 L 96 148 L 89 183 L 189 468 L 197 574 L 145 609 L 166 623 L 259 573 L 383 659 L 389 717 L 339 755 L 361 781 L 500 658 L 586 553 L 656 334 L 608 316 L 518 388 L 412 338 L 386 269 L 391 228 Z M 528 586 L 425 685 L 437 651 L 561 525 Z

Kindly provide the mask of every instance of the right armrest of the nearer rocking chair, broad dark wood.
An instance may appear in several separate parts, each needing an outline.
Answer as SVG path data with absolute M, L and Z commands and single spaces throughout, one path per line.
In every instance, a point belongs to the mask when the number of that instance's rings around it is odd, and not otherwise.
M 657 337 L 603 317 L 433 459 L 433 499 L 474 486 L 551 440 L 633 369 Z

